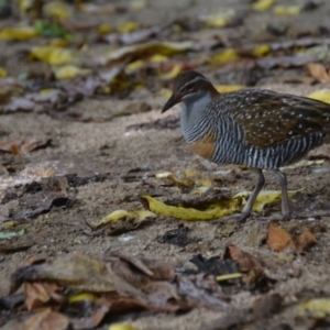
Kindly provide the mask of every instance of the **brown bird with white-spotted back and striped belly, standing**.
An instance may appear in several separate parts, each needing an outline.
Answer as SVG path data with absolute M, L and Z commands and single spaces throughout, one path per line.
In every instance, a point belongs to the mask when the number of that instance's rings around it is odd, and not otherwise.
M 175 78 L 162 113 L 177 103 L 182 103 L 184 139 L 196 154 L 216 164 L 243 165 L 256 172 L 255 186 L 238 221 L 252 215 L 265 184 L 264 169 L 273 172 L 280 186 L 279 220 L 292 219 L 287 178 L 280 167 L 330 142 L 330 105 L 267 89 L 220 94 L 195 70 Z

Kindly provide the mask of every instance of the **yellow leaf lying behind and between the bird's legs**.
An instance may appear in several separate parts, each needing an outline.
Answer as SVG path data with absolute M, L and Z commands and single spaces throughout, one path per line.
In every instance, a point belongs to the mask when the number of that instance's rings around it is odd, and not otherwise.
M 293 196 L 298 190 L 292 190 L 288 191 L 288 196 Z M 234 195 L 232 198 L 243 198 L 242 204 L 245 205 L 249 196 L 251 195 L 251 191 L 241 191 L 237 195 Z M 252 207 L 252 210 L 255 212 L 261 212 L 266 205 L 272 205 L 280 200 L 282 194 L 278 190 L 262 190 L 257 197 L 256 200 Z

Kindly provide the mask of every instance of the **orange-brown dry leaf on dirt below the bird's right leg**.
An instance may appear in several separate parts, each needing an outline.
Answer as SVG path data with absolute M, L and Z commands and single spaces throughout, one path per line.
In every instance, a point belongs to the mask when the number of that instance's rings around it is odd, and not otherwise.
M 285 249 L 296 250 L 295 243 L 289 232 L 272 221 L 268 226 L 267 245 L 272 251 L 283 251 Z

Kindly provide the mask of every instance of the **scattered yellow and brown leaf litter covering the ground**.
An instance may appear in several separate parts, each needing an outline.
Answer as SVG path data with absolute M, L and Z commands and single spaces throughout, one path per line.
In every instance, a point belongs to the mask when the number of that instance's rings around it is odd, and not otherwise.
M 21 114 L 46 114 L 64 122 L 101 122 L 94 116 L 81 114 L 72 109 L 82 100 L 88 102 L 88 99 L 110 98 L 117 101 L 129 98 L 136 102 L 135 97 L 139 96 L 142 106 L 136 105 L 120 111 L 111 109 L 110 120 L 116 121 L 122 116 L 135 116 L 153 110 L 155 107 L 153 103 L 148 103 L 147 97 L 165 97 L 170 90 L 173 79 L 182 70 L 195 68 L 210 76 L 220 92 L 239 90 L 254 85 L 261 86 L 265 77 L 270 77 L 274 81 L 276 73 L 282 70 L 285 73 L 282 82 L 298 82 L 308 87 L 317 84 L 315 87 L 306 88 L 304 95 L 329 102 L 329 90 L 327 86 L 321 85 L 329 82 L 327 62 L 329 31 L 327 32 L 327 26 L 295 30 L 295 26 L 290 24 L 278 24 L 278 20 L 292 22 L 295 21 L 295 18 L 311 13 L 314 10 L 318 11 L 318 7 L 322 8 L 319 3 L 311 3 L 312 1 L 306 6 L 280 6 L 278 1 L 250 1 L 246 6 L 242 4 L 238 9 L 232 4 L 232 8 L 229 6 L 228 10 L 220 13 L 219 11 L 204 11 L 204 15 L 176 19 L 166 24 L 162 23 L 162 25 L 160 22 L 153 24 L 143 22 L 142 24 L 131 16 L 130 19 L 123 16 L 127 13 L 134 16 L 138 11 L 150 9 L 152 6 L 147 1 L 133 1 L 129 6 L 124 3 L 110 6 L 102 1 L 100 3 L 76 1 L 75 4 L 67 1 L 51 1 L 50 3 L 31 1 L 29 6 L 32 7 L 23 8 L 23 4 L 26 6 L 28 2 L 20 2 L 21 7 L 19 15 L 16 15 L 18 18 L 20 15 L 29 18 L 24 19 L 28 26 L 16 24 L 18 21 L 15 21 L 12 26 L 2 28 L 0 31 L 0 38 L 6 43 L 6 47 L 20 43 L 25 47 L 18 55 L 21 56 L 20 62 L 22 63 L 22 66 L 18 68 L 21 70 L 19 74 L 18 69 L 8 65 L 10 61 L 1 64 L 0 75 L 3 78 L 0 82 L 2 89 L 0 113 L 3 116 L 18 118 L 20 116 L 18 112 L 24 112 Z M 183 4 L 176 3 L 176 6 Z M 195 4 L 190 3 L 189 6 L 194 7 Z M 186 9 L 182 12 L 185 11 Z M 78 22 L 75 20 L 77 13 L 92 13 L 97 20 L 92 23 Z M 119 24 L 116 23 L 116 19 L 113 22 L 111 20 L 117 15 L 121 19 Z M 266 24 L 264 26 L 253 24 L 253 31 L 249 30 L 249 15 L 253 18 L 257 15 L 262 20 L 265 20 L 264 18 L 267 15 Z M 107 18 L 106 23 L 102 23 L 102 16 Z M 122 20 L 123 18 L 124 20 Z M 241 29 L 242 26 L 244 29 Z M 37 78 L 29 74 L 26 68 L 35 64 L 46 65 L 48 74 L 40 75 Z M 288 75 L 292 72 L 295 75 Z M 315 92 L 309 94 L 312 90 Z M 145 105 L 144 99 L 146 106 L 143 106 Z M 141 134 L 141 131 L 147 130 L 145 132 L 151 136 L 153 136 L 153 129 L 175 132 L 177 128 L 177 116 L 128 124 L 128 130 L 135 130 L 134 134 Z M 61 141 L 65 135 L 62 135 L 61 130 L 58 132 L 56 134 Z M 13 153 L 26 157 L 31 152 L 29 157 L 34 160 L 33 157 L 38 157 L 34 156 L 37 153 L 32 153 L 34 150 L 43 146 L 58 147 L 57 140 L 55 145 L 51 145 L 51 140 L 47 139 L 9 138 L 1 136 L 4 156 Z M 52 139 L 52 141 L 55 140 Z M 179 143 L 177 145 L 182 147 Z M 52 152 L 52 150 L 40 151 L 40 153 L 46 152 Z M 111 153 L 112 150 L 109 154 Z M 321 161 L 323 162 L 323 160 Z M 157 165 L 153 168 L 154 173 L 166 173 L 166 175 L 163 175 L 162 178 L 147 179 L 142 179 L 142 176 L 133 174 L 125 176 L 124 170 L 117 168 L 118 173 L 122 174 L 119 182 L 124 182 L 128 187 L 131 187 L 129 185 L 132 183 L 144 185 L 144 188 L 141 189 L 143 194 L 136 193 L 136 195 L 144 196 L 142 197 L 143 204 L 153 212 L 139 208 L 139 196 L 135 197 L 135 204 L 132 204 L 132 207 L 127 208 L 125 205 L 119 206 L 120 202 L 117 202 L 111 205 L 114 211 L 108 216 L 103 216 L 107 213 L 105 209 L 100 213 L 92 213 L 92 219 L 100 220 L 87 221 L 85 219 L 92 229 L 91 233 L 106 228 L 110 228 L 110 230 L 103 231 L 101 235 L 105 232 L 111 235 L 132 230 L 142 232 L 144 224 L 152 227 L 155 226 L 152 222 L 168 222 L 170 221 L 168 217 L 201 220 L 206 215 L 208 218 L 210 212 L 210 219 L 218 219 L 242 208 L 249 196 L 246 191 L 250 189 L 234 185 L 239 179 L 244 179 L 243 170 L 237 174 L 232 183 L 229 178 L 221 178 L 221 182 L 224 182 L 223 186 L 230 183 L 230 188 L 228 190 L 220 189 L 221 193 L 218 194 L 220 207 L 215 207 L 215 196 L 210 197 L 208 194 L 217 180 L 205 173 L 189 175 L 189 167 L 186 164 L 179 168 L 180 173 L 173 170 L 170 166 Z M 323 163 L 312 162 L 306 166 L 317 165 L 324 167 Z M 22 166 L 24 167 L 25 164 Z M 122 165 L 117 166 L 120 168 Z M 4 164 L 4 168 L 14 168 L 14 165 Z M 294 175 L 299 172 L 312 173 L 314 170 L 302 167 L 301 164 L 295 164 L 294 167 L 286 169 L 293 172 Z M 4 252 L 4 257 L 7 254 L 14 256 L 13 252 L 35 244 L 35 238 L 29 237 L 29 230 L 20 234 L 22 227 L 20 224 L 15 227 L 20 221 L 35 218 L 40 221 L 41 213 L 69 209 L 75 202 L 78 206 L 81 201 L 76 199 L 77 191 L 75 189 L 91 183 L 105 183 L 113 176 L 111 173 L 107 173 L 81 177 L 79 174 L 70 173 L 64 176 L 67 178 L 64 186 L 58 183 L 58 189 L 46 188 L 45 184 L 36 187 L 33 193 L 29 191 L 29 188 L 22 195 L 18 193 L 19 189 L 15 190 L 16 195 L 13 194 L 13 190 L 8 191 L 4 200 L 9 201 L 10 208 L 2 210 L 1 205 L 0 220 L 4 226 L 14 227 L 7 229 L 1 227 L 4 238 L 1 239 L 3 242 L 0 242 L 0 245 L 2 246 L 2 243 L 6 242 L 6 246 L 3 245 L 3 249 L 0 246 L 0 250 L 2 249 L 1 252 Z M 57 179 L 55 178 L 55 180 Z M 301 185 L 298 188 L 295 187 L 296 190 L 293 191 L 300 191 Z M 151 191 L 156 191 L 156 194 L 151 194 Z M 235 196 L 230 191 L 240 193 Z M 168 195 L 172 193 L 175 197 L 168 200 Z M 190 194 L 196 194 L 197 197 L 191 198 Z M 300 196 L 297 194 L 296 198 L 300 198 Z M 304 198 L 318 197 L 305 194 Z M 279 199 L 278 191 L 265 191 L 265 195 L 261 196 L 261 200 L 254 206 L 254 210 L 264 211 L 265 208 L 278 204 Z M 163 202 L 164 200 L 165 202 Z M 4 206 L 7 207 L 7 205 Z M 108 205 L 107 209 L 109 209 Z M 8 222 L 9 220 L 15 220 L 13 222 L 15 224 L 11 224 Z M 199 224 L 198 222 L 194 223 L 197 227 Z M 265 226 L 260 226 L 262 230 L 260 228 L 258 230 L 263 233 Z M 195 273 L 191 273 L 191 270 L 186 273 L 182 272 L 182 268 L 177 271 L 173 264 L 166 263 L 164 260 L 133 256 L 135 254 L 112 254 L 102 261 L 81 254 L 54 256 L 53 253 L 52 258 L 32 263 L 14 273 L 13 287 L 18 287 L 20 284 L 23 286 L 25 307 L 22 307 L 22 300 L 15 295 L 2 296 L 0 305 L 1 307 L 12 306 L 15 309 L 16 304 L 21 304 L 21 309 L 29 308 L 33 311 L 33 315 L 25 320 L 16 320 L 15 329 L 20 327 L 40 328 L 42 324 L 46 324 L 45 327 L 48 329 L 95 328 L 101 324 L 108 315 L 117 312 L 124 314 L 135 309 L 175 312 L 201 306 L 207 309 L 226 310 L 227 314 L 216 320 L 217 322 L 208 322 L 202 329 L 221 329 L 243 324 L 254 324 L 262 329 L 266 321 L 265 317 L 272 318 L 289 308 L 286 301 L 300 299 L 295 294 L 264 293 L 268 293 L 270 289 L 276 292 L 278 289 L 276 280 L 285 285 L 288 277 L 299 278 L 300 273 L 296 272 L 296 274 L 293 271 L 295 268 L 293 264 L 299 263 L 300 258 L 306 258 L 304 267 L 308 267 L 310 258 L 318 260 L 320 257 L 317 250 L 322 249 L 327 230 L 319 230 L 317 227 L 317 223 L 307 226 L 304 222 L 290 227 L 271 222 L 263 243 L 258 243 L 260 239 L 257 242 L 252 240 L 253 243 L 251 243 L 250 238 L 240 238 L 241 228 L 232 226 L 230 222 L 223 223 L 221 228 L 211 229 L 215 238 L 219 241 L 215 242 L 213 239 L 213 241 L 207 242 L 206 255 L 195 257 L 197 266 L 197 271 L 194 270 Z M 147 227 L 144 229 L 150 230 Z M 253 230 L 256 231 L 255 228 Z M 180 249 L 174 250 L 180 256 L 189 251 L 189 245 L 205 239 L 201 233 L 195 233 L 194 227 L 187 223 L 160 232 L 153 239 L 157 244 L 162 244 L 162 249 L 166 249 L 168 245 Z M 227 242 L 229 237 L 235 244 Z M 19 242 L 20 239 L 26 241 Z M 239 239 L 240 244 L 237 244 Z M 250 243 L 248 246 L 244 245 L 246 251 L 242 251 L 238 246 L 241 246 L 241 241 L 243 242 L 245 239 Z M 224 256 L 219 257 L 219 251 L 216 252 L 215 244 L 219 246 L 224 243 L 227 244 Z M 255 250 L 251 250 L 251 245 Z M 314 250 L 314 245 L 317 246 L 316 250 Z M 185 249 L 187 250 L 185 251 Z M 135 252 L 136 248 L 134 248 Z M 278 274 L 282 274 L 282 277 Z M 277 279 L 274 279 L 275 277 Z M 255 297 L 253 304 L 249 302 L 249 308 L 233 307 L 229 311 L 231 302 L 228 298 L 232 296 L 235 299 L 235 295 L 242 290 L 257 293 L 261 296 Z M 300 299 L 296 304 L 295 312 L 305 320 L 315 319 L 317 322 L 322 322 L 327 320 L 329 314 L 327 304 L 327 297 L 323 298 L 319 293 L 315 293 L 311 299 Z M 43 310 L 38 310 L 40 307 L 43 307 Z M 119 329 L 134 328 L 130 323 L 124 323 L 111 324 L 110 329 L 117 329 L 116 327 Z

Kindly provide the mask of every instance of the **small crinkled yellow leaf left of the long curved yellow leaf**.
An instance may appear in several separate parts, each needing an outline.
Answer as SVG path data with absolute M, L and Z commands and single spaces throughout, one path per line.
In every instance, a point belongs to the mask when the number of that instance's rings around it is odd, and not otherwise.
M 105 227 L 108 226 L 112 222 L 118 222 L 124 219 L 130 219 L 132 221 L 143 221 L 147 218 L 155 218 L 156 215 L 151 212 L 151 211 L 146 211 L 146 210 L 134 210 L 134 211 L 127 211 L 127 210 L 117 210 L 111 212 L 110 215 L 103 217 L 100 221 L 95 221 L 89 223 L 89 226 L 92 229 L 97 229 L 100 227 Z

